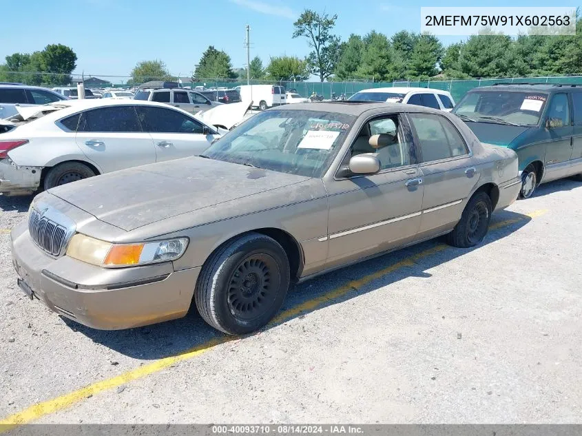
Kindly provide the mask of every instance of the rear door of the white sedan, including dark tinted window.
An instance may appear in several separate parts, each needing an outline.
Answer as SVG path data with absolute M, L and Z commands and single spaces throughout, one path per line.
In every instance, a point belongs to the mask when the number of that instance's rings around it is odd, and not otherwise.
M 132 105 L 107 106 L 81 114 L 76 143 L 101 172 L 156 162 L 152 136 L 143 132 Z

